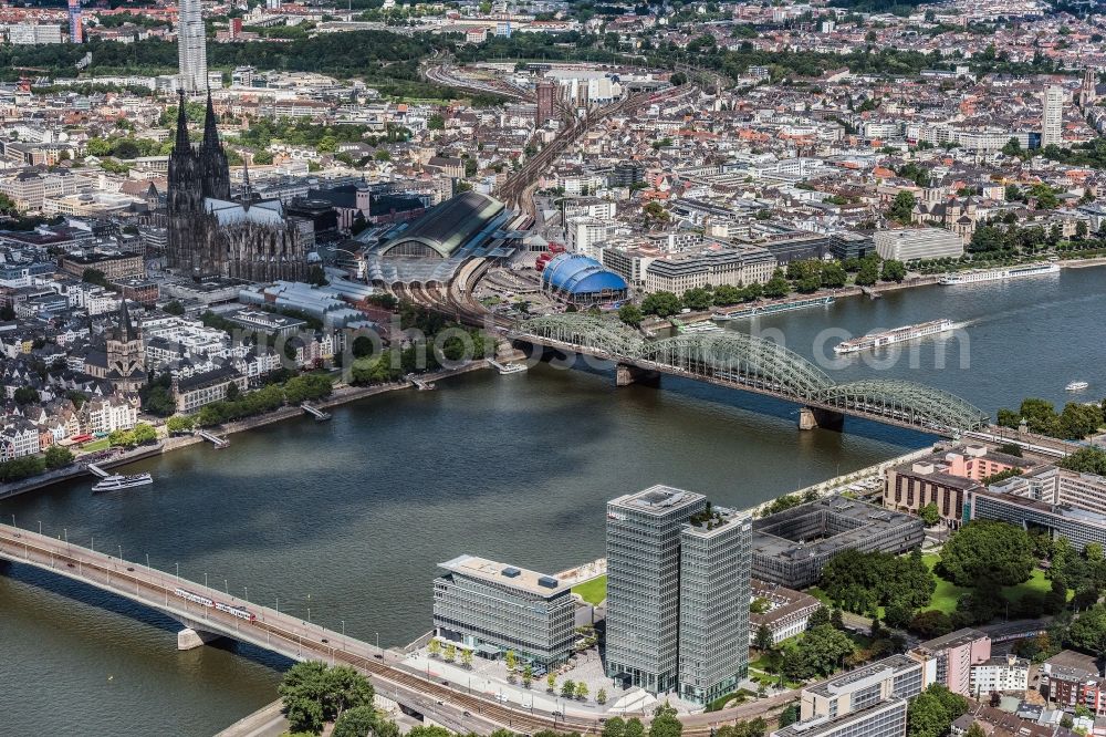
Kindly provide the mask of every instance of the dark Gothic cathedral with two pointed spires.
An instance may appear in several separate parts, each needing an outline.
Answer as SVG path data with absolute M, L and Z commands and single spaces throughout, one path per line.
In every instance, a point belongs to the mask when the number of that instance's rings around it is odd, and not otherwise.
M 288 217 L 279 199 L 255 197 L 248 173 L 243 194 L 231 197 L 230 166 L 216 123 L 209 92 L 204 137 L 194 145 L 180 93 L 169 155 L 168 268 L 194 279 L 303 281 L 310 222 Z

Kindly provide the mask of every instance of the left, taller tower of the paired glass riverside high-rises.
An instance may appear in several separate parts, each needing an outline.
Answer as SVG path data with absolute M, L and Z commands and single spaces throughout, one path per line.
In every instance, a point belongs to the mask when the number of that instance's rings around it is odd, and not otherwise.
M 607 675 L 626 686 L 678 686 L 680 529 L 706 509 L 667 486 L 607 502 Z

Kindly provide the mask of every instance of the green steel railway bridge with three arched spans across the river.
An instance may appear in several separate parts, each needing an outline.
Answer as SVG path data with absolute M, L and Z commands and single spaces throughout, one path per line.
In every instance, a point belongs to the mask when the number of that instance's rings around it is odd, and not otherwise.
M 844 415 L 960 435 L 987 426 L 966 399 L 924 384 L 865 380 L 838 384 L 772 341 L 732 331 L 646 341 L 609 320 L 585 314 L 534 318 L 510 331 L 517 341 L 618 364 L 618 383 L 659 374 L 686 376 L 802 405 L 800 426 L 839 426 Z

